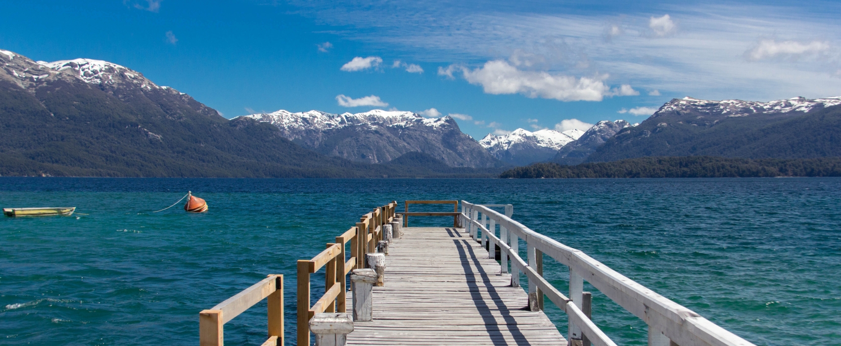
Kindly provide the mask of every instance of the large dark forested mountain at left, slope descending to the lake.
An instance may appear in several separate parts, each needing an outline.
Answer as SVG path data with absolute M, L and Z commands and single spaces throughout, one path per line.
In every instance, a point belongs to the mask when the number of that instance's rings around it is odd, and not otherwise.
M 399 161 L 403 165 L 321 155 L 284 138 L 276 126 L 247 117 L 228 120 L 183 92 L 107 61 L 36 62 L 0 50 L 0 65 L 3 176 L 492 176 L 500 171 L 451 168 L 423 155 L 408 155 Z

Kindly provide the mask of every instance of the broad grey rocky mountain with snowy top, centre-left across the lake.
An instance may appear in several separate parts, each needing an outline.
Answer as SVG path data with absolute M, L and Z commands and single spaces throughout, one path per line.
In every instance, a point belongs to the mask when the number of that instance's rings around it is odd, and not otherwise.
M 385 163 L 406 153 L 422 152 L 454 167 L 501 165 L 450 117 L 423 118 L 416 113 L 379 109 L 342 114 L 279 110 L 245 117 L 272 123 L 284 137 L 306 148 L 348 160 Z

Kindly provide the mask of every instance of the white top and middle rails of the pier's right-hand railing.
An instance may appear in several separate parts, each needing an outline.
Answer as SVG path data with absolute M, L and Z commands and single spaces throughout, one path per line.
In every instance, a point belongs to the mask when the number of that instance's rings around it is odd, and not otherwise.
M 561 244 L 558 241 L 548 238 L 541 233 L 532 231 L 521 223 L 518 223 L 511 218 L 495 212 L 488 207 L 478 204 L 472 204 L 462 201 L 463 207 L 467 212 L 462 213 L 461 218 L 464 218 L 470 224 L 470 228 L 482 232 L 482 239 L 488 238 L 493 241 L 496 246 L 505 249 L 505 253 L 510 256 L 512 267 L 518 267 L 518 270 L 526 273 L 530 280 L 530 289 L 539 286 L 543 294 L 546 294 L 550 300 L 558 305 L 564 312 L 570 316 L 571 328 L 574 325 L 580 328 L 582 332 L 596 343 L 600 339 L 600 333 L 594 329 L 595 324 L 590 325 L 590 322 L 576 304 L 574 309 L 567 307 L 570 302 L 569 298 L 560 295 L 551 285 L 542 279 L 542 275 L 538 275 L 537 271 L 532 269 L 532 252 L 539 250 L 542 254 L 547 254 L 553 259 L 557 260 L 562 265 L 569 266 L 570 277 L 577 276 L 577 280 L 584 278 L 590 285 L 601 291 L 605 296 L 616 301 L 621 307 L 625 308 L 637 317 L 640 317 L 648 323 L 650 329 L 659 331 L 668 337 L 672 342 L 681 346 L 710 346 L 710 345 L 753 345 L 747 340 L 738 337 L 727 331 L 724 328 L 717 326 L 704 317 L 701 317 L 696 312 L 681 306 L 680 304 L 669 300 L 664 296 L 660 296 L 654 291 L 649 290 L 645 286 L 628 279 L 626 276 L 619 274 L 616 270 L 612 270 L 601 262 L 591 258 L 579 249 L 573 249 L 567 245 Z M 512 237 L 512 244 L 516 237 L 526 239 L 527 249 L 529 252 L 529 264 L 526 264 L 516 250 L 508 247 L 504 241 L 501 241 L 495 236 L 495 232 L 489 231 L 484 227 L 484 222 L 479 223 L 476 220 L 477 212 L 481 212 L 483 216 L 487 216 L 490 220 L 500 224 L 500 230 L 505 229 Z M 475 231 L 473 231 L 475 233 Z M 515 265 L 516 264 L 516 265 Z M 507 264 L 503 264 L 507 266 Z M 512 275 L 516 275 L 513 272 Z M 513 281 L 513 280 L 512 280 Z M 534 286 L 532 286 L 534 284 Z M 537 288 L 537 287 L 535 287 Z M 557 294 L 556 294 L 557 292 Z M 580 294 L 580 292 L 577 292 Z M 563 298 L 562 298 L 563 297 Z M 573 297 L 574 298 L 574 297 Z M 557 300 L 557 301 L 556 301 Z M 572 312 L 572 313 L 570 313 Z M 571 329 L 570 328 L 570 329 Z M 590 335 L 593 334 L 593 335 Z M 600 340 L 599 342 L 604 342 Z M 601 343 L 597 343 L 601 344 Z M 607 343 L 605 343 L 607 344 Z

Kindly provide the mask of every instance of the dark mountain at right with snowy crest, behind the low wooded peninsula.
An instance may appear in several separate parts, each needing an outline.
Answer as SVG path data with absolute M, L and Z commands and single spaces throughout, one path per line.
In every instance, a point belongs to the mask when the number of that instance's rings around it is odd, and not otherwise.
M 711 155 L 805 159 L 841 155 L 841 97 L 771 102 L 673 99 L 621 130 L 588 162 Z

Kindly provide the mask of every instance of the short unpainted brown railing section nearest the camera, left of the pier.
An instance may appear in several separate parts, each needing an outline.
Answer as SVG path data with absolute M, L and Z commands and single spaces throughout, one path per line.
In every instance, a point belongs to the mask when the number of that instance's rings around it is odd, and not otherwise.
M 283 275 L 276 274 L 268 275 L 209 310 L 198 312 L 198 343 L 201 346 L 222 346 L 225 343 L 225 323 L 264 298 L 268 298 L 268 339 L 262 346 L 282 346 Z

